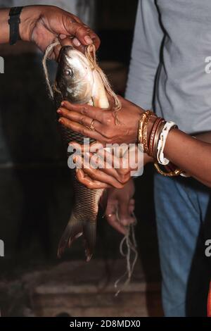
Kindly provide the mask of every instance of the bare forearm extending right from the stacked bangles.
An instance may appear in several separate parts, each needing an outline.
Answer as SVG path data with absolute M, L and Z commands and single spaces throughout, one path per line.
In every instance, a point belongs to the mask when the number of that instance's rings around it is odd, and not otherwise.
M 186 173 L 211 187 L 211 144 L 175 129 L 167 137 L 164 154 Z

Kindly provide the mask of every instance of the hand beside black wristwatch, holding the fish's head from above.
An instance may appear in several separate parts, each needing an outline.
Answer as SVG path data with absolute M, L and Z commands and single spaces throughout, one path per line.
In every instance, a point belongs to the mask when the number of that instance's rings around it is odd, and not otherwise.
M 84 51 L 84 46 L 89 44 L 94 44 L 96 49 L 100 45 L 98 36 L 77 16 L 56 6 L 25 6 L 19 29 L 20 38 L 35 42 L 41 51 L 56 40 L 61 46 L 72 45 L 79 51 Z M 55 47 L 50 57 L 56 59 L 59 51 L 60 46 Z

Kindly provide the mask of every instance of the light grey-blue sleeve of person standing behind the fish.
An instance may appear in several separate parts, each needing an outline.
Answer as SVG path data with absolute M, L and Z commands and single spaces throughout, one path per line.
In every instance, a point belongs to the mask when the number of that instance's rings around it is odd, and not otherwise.
M 155 75 L 164 33 L 155 0 L 139 0 L 129 65 L 126 99 L 152 109 Z

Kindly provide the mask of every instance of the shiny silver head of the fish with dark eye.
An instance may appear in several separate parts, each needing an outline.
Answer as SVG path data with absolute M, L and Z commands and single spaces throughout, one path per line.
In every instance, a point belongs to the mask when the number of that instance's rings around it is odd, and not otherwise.
M 86 56 L 72 46 L 63 46 L 58 58 L 56 87 L 63 99 L 87 104 L 92 97 L 94 76 Z

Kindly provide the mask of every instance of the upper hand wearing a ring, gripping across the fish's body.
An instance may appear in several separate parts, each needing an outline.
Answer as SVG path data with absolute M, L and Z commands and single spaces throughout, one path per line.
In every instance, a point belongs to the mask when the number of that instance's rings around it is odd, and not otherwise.
M 63 101 L 58 114 L 59 122 L 65 127 L 102 144 L 131 144 L 137 140 L 139 119 L 143 109 L 118 96 L 122 108 L 118 113 L 120 123 L 115 122 L 113 101 L 109 98 L 110 108 L 101 109 L 87 104 L 70 104 Z

